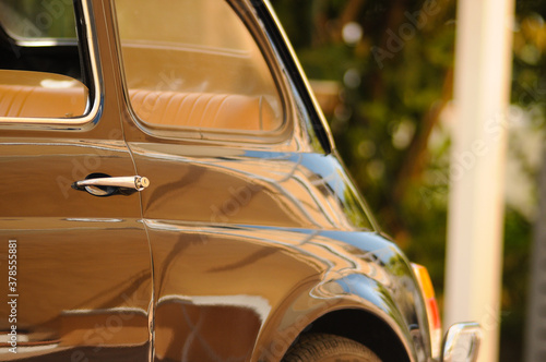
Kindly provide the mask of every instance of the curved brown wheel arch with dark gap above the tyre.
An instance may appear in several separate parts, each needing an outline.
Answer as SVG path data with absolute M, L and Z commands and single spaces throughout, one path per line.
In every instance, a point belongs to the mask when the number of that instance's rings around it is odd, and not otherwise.
M 383 361 L 416 361 L 415 340 L 404 317 L 391 295 L 384 289 L 371 288 L 372 283 L 360 285 L 363 289 L 354 294 L 330 293 L 327 297 L 328 293 L 319 293 L 323 297 L 320 302 L 316 299 L 318 294 L 311 297 L 320 288 L 304 288 L 306 291 L 299 294 L 299 301 L 305 301 L 305 304 L 287 303 L 275 313 L 276 317 L 265 323 L 252 361 L 282 360 L 289 347 L 308 333 L 353 339 L 371 349 Z M 310 309 L 304 312 L 305 307 L 296 305 L 308 305 Z M 296 311 L 299 313 L 295 314 Z

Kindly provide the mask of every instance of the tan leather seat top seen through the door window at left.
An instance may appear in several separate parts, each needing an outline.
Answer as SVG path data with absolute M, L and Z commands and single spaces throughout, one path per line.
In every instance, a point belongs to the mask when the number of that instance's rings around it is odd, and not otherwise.
M 80 117 L 87 98 L 87 87 L 69 76 L 0 70 L 0 117 Z

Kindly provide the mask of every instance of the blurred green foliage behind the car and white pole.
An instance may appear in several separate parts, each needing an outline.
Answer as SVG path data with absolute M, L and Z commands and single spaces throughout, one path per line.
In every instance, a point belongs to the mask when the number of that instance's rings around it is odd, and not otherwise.
M 384 231 L 428 267 L 441 305 L 456 1 L 271 2 L 324 100 L 349 171 Z M 501 361 L 523 358 L 546 96 L 545 13 L 546 0 L 517 1 Z

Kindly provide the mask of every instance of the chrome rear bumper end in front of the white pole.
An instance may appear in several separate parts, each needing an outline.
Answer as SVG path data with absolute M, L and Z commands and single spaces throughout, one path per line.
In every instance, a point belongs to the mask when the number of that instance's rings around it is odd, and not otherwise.
M 452 325 L 443 338 L 442 362 L 477 361 L 482 327 L 477 323 L 458 323 Z

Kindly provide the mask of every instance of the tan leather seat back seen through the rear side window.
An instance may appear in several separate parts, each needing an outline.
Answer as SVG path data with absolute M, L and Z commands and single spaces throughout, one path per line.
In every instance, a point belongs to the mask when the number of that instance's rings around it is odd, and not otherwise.
M 164 126 L 271 131 L 281 125 L 271 106 L 260 96 L 131 89 L 135 113 Z

